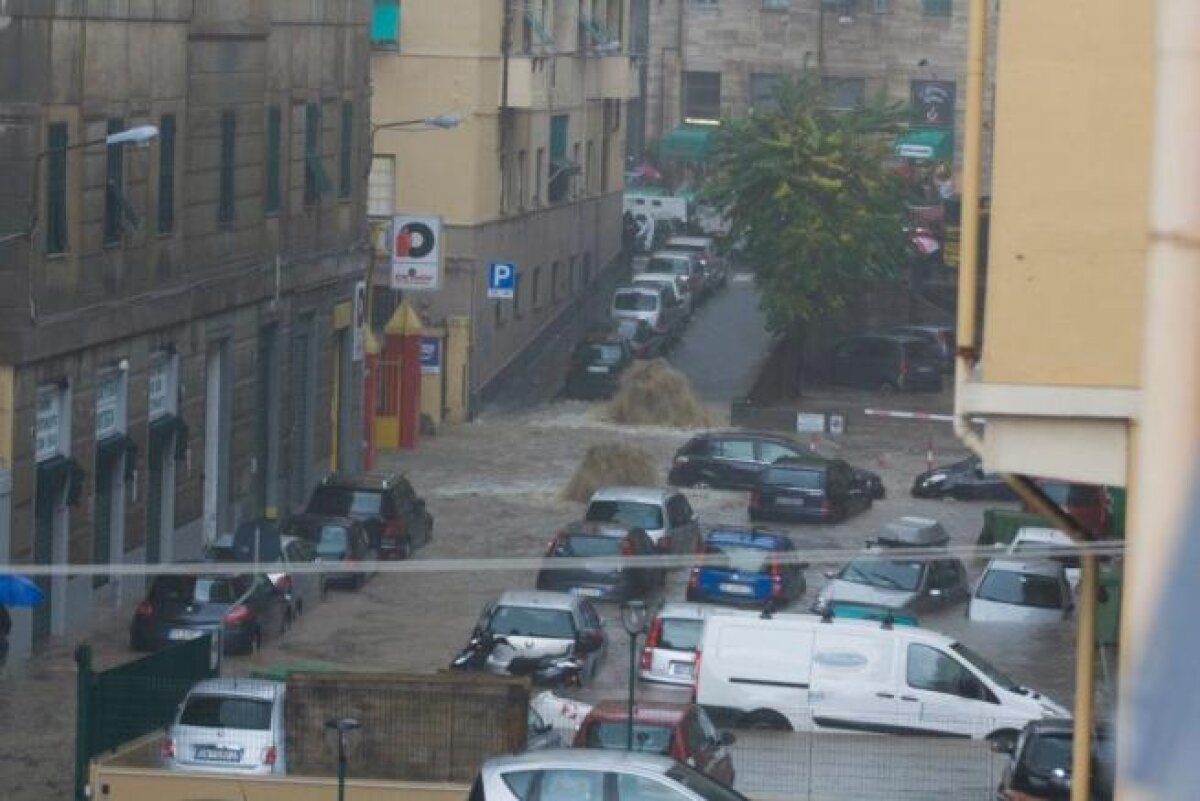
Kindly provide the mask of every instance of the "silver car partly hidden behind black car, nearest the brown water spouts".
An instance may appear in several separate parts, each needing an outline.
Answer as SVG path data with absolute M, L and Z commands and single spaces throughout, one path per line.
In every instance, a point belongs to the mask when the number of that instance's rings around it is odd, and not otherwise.
M 700 548 L 700 518 L 678 489 L 601 487 L 592 494 L 584 519 L 643 529 L 664 553 L 694 554 Z

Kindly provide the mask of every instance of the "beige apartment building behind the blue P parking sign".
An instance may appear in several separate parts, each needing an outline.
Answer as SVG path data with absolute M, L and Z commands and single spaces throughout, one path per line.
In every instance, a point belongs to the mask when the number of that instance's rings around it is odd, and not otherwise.
M 374 323 L 401 295 L 426 325 L 468 319 L 468 397 L 445 406 L 469 408 L 619 267 L 629 0 L 376 2 L 374 22 L 370 213 L 443 227 L 436 289 L 397 291 L 380 259 Z M 461 122 L 420 124 L 437 115 Z M 511 300 L 491 264 L 515 266 Z

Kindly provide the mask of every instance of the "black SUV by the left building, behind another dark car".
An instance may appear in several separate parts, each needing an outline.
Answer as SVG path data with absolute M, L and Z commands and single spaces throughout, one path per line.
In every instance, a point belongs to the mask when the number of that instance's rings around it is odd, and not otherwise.
M 331 474 L 313 488 L 305 513 L 360 520 L 380 559 L 408 559 L 433 538 L 433 516 L 398 472 Z

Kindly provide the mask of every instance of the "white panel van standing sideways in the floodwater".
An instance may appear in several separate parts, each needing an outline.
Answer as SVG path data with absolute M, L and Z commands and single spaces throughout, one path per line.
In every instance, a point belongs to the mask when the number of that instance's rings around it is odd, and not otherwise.
M 739 725 L 990 739 L 1070 717 L 914 626 L 722 612 L 704 621 L 697 663 L 696 701 Z

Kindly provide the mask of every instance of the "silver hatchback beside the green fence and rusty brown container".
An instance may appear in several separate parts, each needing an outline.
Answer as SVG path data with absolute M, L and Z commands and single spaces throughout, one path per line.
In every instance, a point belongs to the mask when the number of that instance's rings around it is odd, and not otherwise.
M 262 679 L 197 683 L 167 727 L 163 767 L 240 775 L 288 772 L 283 701 L 287 685 Z

